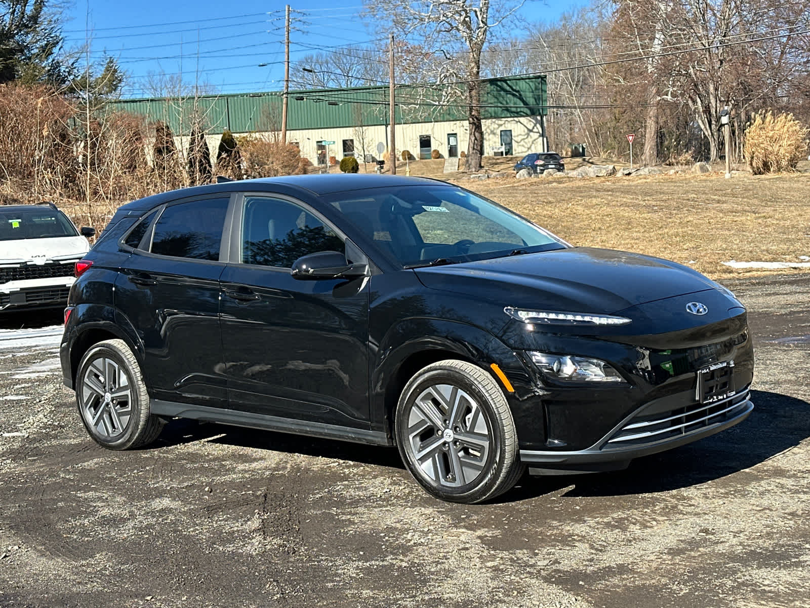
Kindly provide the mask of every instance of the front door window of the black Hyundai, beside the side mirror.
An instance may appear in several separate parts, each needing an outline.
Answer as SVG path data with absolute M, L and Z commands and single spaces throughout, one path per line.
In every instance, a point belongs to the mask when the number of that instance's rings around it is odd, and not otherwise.
M 302 255 L 344 252 L 343 240 L 304 208 L 286 200 L 246 196 L 242 262 L 292 268 Z

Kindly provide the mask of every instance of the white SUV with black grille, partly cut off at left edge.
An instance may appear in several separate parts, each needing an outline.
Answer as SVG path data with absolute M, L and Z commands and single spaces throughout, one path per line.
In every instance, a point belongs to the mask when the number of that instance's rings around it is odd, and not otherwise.
M 86 237 L 53 203 L 0 206 L 0 314 L 63 306 Z

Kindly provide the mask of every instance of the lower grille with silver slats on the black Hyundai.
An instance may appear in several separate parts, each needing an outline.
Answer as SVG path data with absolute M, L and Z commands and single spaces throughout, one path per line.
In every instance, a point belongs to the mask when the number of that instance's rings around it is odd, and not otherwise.
M 631 418 L 603 445 L 603 450 L 657 443 L 696 433 L 707 426 L 735 418 L 746 408 L 748 388 L 726 399 L 712 403 L 695 403 L 668 412 L 645 414 L 644 410 Z

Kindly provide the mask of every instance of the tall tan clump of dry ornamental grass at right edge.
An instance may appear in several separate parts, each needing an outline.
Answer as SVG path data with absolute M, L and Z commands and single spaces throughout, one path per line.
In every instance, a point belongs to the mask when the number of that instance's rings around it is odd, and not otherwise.
M 807 154 L 808 133 L 791 113 L 755 114 L 745 130 L 745 157 L 754 175 L 795 169 Z

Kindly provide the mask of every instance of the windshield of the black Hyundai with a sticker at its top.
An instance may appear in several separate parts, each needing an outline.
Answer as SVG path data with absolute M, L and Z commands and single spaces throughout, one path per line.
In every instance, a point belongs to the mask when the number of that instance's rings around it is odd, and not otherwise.
M 565 248 L 551 233 L 458 186 L 374 188 L 327 201 L 403 268 Z

